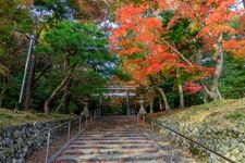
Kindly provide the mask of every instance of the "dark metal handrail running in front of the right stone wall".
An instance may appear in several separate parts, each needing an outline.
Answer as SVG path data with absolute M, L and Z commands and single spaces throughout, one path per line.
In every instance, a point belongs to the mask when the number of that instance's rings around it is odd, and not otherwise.
M 213 151 L 213 150 L 211 150 L 211 149 L 209 149 L 209 148 L 207 148 L 207 147 L 200 145 L 199 142 L 197 142 L 197 141 L 195 141 L 195 140 L 193 140 L 193 139 L 186 137 L 186 136 L 184 136 L 183 134 L 181 134 L 181 133 L 179 133 L 179 131 L 175 131 L 174 129 L 172 129 L 172 128 L 170 128 L 170 127 L 163 125 L 162 123 L 160 123 L 160 122 L 158 122 L 158 121 L 156 121 L 156 120 L 152 120 L 152 121 L 151 121 L 151 125 L 154 125 L 154 123 L 157 124 L 157 125 L 159 125 L 159 126 L 161 126 L 161 127 L 163 127 L 163 128 L 166 128 L 166 129 L 168 129 L 168 130 L 170 130 L 170 131 L 172 131 L 172 133 L 174 133 L 174 134 L 176 134 L 177 136 L 181 136 L 182 138 L 187 139 L 188 141 L 191 141 L 191 142 L 197 145 L 198 147 L 205 149 L 206 151 L 208 151 L 208 152 L 211 154 L 211 155 L 210 155 L 210 156 L 211 156 L 211 162 L 215 162 L 215 160 L 213 160 L 215 158 L 213 158 L 213 155 L 212 155 L 212 154 L 215 154 L 215 155 L 218 155 L 218 156 L 220 156 L 221 159 L 223 159 L 223 160 L 225 160 L 225 161 L 228 161 L 228 162 L 235 163 L 233 160 L 230 160 L 230 159 L 228 159 L 226 156 L 224 156 L 224 155 L 222 155 L 222 154 L 220 154 L 220 153 L 217 153 L 216 151 Z

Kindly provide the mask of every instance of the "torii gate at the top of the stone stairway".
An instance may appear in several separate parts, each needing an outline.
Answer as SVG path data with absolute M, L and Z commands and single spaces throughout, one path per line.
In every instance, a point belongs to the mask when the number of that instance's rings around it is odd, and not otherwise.
M 134 96 L 136 96 L 136 93 L 130 92 L 130 90 L 136 90 L 136 87 L 109 86 L 109 87 L 103 87 L 103 88 L 98 88 L 98 89 L 109 90 L 110 92 L 102 92 L 100 95 L 94 95 L 94 96 L 100 97 L 99 98 L 99 109 L 96 110 L 95 115 L 101 115 L 103 97 L 125 97 L 125 99 L 126 99 L 126 115 L 131 115 L 130 97 L 134 97 Z M 121 91 L 121 92 L 118 92 L 118 91 Z

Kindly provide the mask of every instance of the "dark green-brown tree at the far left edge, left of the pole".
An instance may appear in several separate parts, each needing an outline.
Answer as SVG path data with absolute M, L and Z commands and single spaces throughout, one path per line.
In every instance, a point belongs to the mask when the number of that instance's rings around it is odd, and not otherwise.
M 7 99 L 4 97 L 13 97 L 12 95 L 7 96 L 12 88 L 15 88 L 14 96 L 19 93 L 16 90 L 20 87 L 11 86 L 11 79 L 14 78 L 16 72 L 22 73 L 20 67 L 24 66 L 23 59 L 28 42 L 26 34 L 30 32 L 29 12 L 26 8 L 20 8 L 21 4 L 19 1 L 0 1 L 0 106 L 9 101 L 16 104 L 17 100 L 17 98 Z M 11 106 L 15 104 L 11 104 Z

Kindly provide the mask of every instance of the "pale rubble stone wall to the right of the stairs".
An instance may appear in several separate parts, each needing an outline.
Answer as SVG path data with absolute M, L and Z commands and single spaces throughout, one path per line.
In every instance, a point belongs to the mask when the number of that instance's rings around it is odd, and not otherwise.
M 194 125 L 171 120 L 163 120 L 161 123 L 217 153 L 235 162 L 245 163 L 245 129 L 241 130 L 232 126 L 209 126 L 207 124 Z M 177 146 L 188 149 L 191 153 L 201 158 L 204 162 L 209 159 L 209 153 L 200 150 L 188 140 L 174 135 L 168 129 L 161 128 L 160 131 L 167 134 Z M 223 162 L 218 156 L 216 156 L 216 161 Z

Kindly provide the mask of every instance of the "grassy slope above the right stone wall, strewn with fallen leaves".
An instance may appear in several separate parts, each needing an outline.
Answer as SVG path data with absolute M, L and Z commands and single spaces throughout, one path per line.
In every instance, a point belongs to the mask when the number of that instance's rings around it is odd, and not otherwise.
M 184 110 L 159 115 L 159 118 L 171 118 L 191 124 L 210 124 L 245 128 L 245 99 L 224 100 L 195 105 Z

